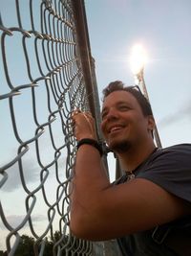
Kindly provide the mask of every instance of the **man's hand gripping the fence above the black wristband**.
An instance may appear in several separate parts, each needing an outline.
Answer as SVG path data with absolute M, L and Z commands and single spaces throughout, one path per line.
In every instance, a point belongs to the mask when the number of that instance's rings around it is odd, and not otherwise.
M 95 120 L 90 112 L 81 112 L 74 110 L 72 114 L 74 125 L 74 136 L 77 141 L 90 138 L 96 140 L 96 125 Z

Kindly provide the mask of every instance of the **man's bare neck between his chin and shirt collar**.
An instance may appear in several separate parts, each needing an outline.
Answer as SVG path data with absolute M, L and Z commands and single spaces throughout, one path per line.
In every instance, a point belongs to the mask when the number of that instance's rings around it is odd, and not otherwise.
M 154 143 L 144 145 L 144 147 L 133 147 L 126 152 L 117 153 L 122 170 L 125 172 L 134 172 L 134 170 L 141 164 L 154 150 L 156 146 Z

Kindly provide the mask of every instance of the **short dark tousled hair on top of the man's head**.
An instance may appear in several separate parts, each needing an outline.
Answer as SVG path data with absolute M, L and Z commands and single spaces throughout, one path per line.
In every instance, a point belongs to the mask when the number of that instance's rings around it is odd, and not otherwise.
M 148 100 L 141 93 L 138 85 L 125 86 L 122 81 L 112 81 L 106 88 L 103 89 L 103 101 L 104 99 L 114 91 L 127 91 L 131 93 L 138 101 L 144 116 L 153 115 L 151 105 Z

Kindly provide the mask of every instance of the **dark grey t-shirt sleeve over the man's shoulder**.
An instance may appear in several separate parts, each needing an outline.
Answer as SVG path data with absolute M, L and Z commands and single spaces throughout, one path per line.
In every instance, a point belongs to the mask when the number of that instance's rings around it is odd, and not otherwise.
M 191 202 L 191 145 L 171 147 L 157 153 L 137 177 L 146 178 Z

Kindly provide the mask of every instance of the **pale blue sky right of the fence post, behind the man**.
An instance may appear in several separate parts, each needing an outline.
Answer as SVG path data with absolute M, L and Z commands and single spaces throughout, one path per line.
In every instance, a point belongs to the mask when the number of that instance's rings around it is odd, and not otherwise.
M 145 48 L 144 79 L 162 147 L 191 142 L 191 1 L 85 0 L 96 80 L 134 84 L 132 47 Z

